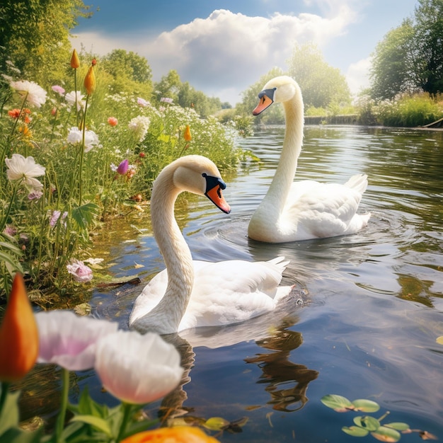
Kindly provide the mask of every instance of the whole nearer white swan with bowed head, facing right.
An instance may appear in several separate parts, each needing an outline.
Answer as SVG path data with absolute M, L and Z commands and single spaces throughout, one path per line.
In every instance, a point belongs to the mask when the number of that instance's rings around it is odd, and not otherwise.
M 287 265 L 284 258 L 267 262 L 192 260 L 174 217 L 174 203 L 185 190 L 206 195 L 229 213 L 226 188 L 217 166 L 203 156 L 173 161 L 154 181 L 152 229 L 166 263 L 144 287 L 130 314 L 130 328 L 145 333 L 176 333 L 200 326 L 240 323 L 272 311 L 292 287 L 279 286 Z

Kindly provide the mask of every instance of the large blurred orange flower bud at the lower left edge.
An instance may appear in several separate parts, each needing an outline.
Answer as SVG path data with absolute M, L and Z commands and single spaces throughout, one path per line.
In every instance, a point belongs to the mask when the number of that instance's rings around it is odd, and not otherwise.
M 0 380 L 18 381 L 38 356 L 38 329 L 21 274 L 16 274 L 0 326 Z

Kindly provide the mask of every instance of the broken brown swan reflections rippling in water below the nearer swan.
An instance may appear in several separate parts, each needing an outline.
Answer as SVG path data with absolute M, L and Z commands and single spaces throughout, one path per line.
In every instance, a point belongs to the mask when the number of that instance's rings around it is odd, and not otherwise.
M 246 323 L 250 323 L 250 321 Z M 318 376 L 317 371 L 309 369 L 304 364 L 296 364 L 289 360 L 292 350 L 297 349 L 303 343 L 301 333 L 288 329 L 295 323 L 294 317 L 284 318 L 280 326 L 268 331 L 264 338 L 255 340 L 258 346 L 266 351 L 269 350 L 269 352 L 260 352 L 254 357 L 244 359 L 247 364 L 258 364 L 262 370 L 256 383 L 267 385 L 265 391 L 271 396 L 267 404 L 272 405 L 275 410 L 288 413 L 304 407 L 308 401 L 306 390 L 309 382 Z M 165 338 L 176 345 L 182 356 L 182 366 L 185 371 L 180 385 L 163 398 L 159 415 L 169 424 L 178 418 L 183 418 L 188 424 L 202 424 L 207 418 L 188 415 L 192 413 L 193 408 L 183 405 L 188 398 L 183 388 L 191 381 L 190 370 L 195 361 L 193 347 L 179 335 L 169 335 Z M 290 386 L 291 384 L 293 385 Z M 290 408 L 291 405 L 296 405 L 296 407 Z

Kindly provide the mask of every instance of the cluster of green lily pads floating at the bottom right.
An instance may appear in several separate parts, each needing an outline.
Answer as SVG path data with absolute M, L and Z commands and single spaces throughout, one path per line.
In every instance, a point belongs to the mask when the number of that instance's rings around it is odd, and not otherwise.
M 329 394 L 321 398 L 321 403 L 335 410 L 338 413 L 345 413 L 351 410 L 363 413 L 376 413 L 380 406 L 378 403 L 365 398 L 359 398 L 354 401 L 348 400 L 346 397 L 336 394 Z M 404 422 L 388 422 L 381 423 L 388 417 L 389 411 L 381 415 L 379 418 L 374 418 L 372 415 L 357 415 L 354 419 L 354 425 L 343 426 L 342 430 L 347 435 L 352 437 L 366 437 L 372 435 L 375 439 L 381 442 L 395 443 L 401 439 L 401 434 L 410 434 L 418 432 L 420 437 L 424 440 L 436 440 L 437 437 L 430 432 L 422 430 L 411 430 L 409 425 Z

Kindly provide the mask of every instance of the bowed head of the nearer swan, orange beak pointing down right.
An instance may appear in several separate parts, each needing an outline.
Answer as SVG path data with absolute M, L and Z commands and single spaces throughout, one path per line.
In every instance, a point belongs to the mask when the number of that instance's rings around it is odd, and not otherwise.
M 197 195 L 205 195 L 226 214 L 231 212 L 222 190 L 226 183 L 215 164 L 204 156 L 184 156 L 171 163 L 175 166 L 173 184 L 180 191 L 188 191 Z

